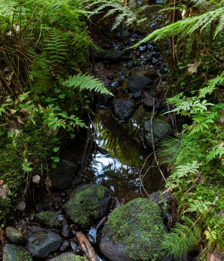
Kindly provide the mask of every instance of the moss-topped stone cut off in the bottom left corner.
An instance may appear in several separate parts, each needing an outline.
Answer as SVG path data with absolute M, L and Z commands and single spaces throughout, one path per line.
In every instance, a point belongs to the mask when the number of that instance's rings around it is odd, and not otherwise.
M 32 258 L 22 247 L 6 244 L 3 248 L 3 261 L 32 261 Z

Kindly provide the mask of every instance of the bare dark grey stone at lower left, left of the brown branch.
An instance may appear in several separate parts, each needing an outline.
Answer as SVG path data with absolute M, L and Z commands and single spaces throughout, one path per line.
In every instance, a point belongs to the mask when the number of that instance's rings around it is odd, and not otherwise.
M 61 245 L 61 237 L 46 229 L 31 227 L 26 235 L 26 248 L 37 259 L 46 258 L 50 253 L 56 252 Z

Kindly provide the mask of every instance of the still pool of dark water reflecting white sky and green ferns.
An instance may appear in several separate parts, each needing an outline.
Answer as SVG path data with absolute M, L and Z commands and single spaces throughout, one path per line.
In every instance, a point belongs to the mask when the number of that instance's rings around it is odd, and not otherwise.
M 139 174 L 147 156 L 140 135 L 147 118 L 142 108 L 127 123 L 112 117 L 110 109 L 98 110 L 94 122 L 98 146 L 93 155 L 89 178 L 91 182 L 108 187 L 119 199 L 127 201 L 140 197 Z M 151 166 L 152 157 L 146 161 L 142 174 Z M 143 175 L 142 175 L 143 176 Z M 162 189 L 162 179 L 157 168 L 151 168 L 143 180 L 147 193 Z

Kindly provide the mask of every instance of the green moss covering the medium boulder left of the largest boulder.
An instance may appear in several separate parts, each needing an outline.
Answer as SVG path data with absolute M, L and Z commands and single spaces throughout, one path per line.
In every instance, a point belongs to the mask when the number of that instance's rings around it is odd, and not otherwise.
M 99 218 L 106 189 L 101 185 L 90 185 L 74 192 L 65 204 L 69 217 L 77 224 L 87 226 L 91 218 Z

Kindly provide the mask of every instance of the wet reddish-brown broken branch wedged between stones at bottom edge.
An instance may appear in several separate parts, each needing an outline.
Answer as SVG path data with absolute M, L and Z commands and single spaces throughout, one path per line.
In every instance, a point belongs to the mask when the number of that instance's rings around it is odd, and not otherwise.
M 89 261 L 100 261 L 86 236 L 84 236 L 81 232 L 76 232 L 75 235 L 84 255 L 89 259 Z

